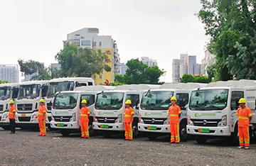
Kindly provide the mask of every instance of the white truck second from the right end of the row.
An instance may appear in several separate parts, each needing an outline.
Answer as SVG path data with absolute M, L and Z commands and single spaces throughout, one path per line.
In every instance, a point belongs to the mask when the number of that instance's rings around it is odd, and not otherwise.
M 181 140 L 187 140 L 187 104 L 190 89 L 205 86 L 206 84 L 198 83 L 163 84 L 159 89 L 144 91 L 139 106 L 139 131 L 144 132 L 149 140 L 170 133 L 168 110 L 171 97 L 176 96 L 176 104 L 181 107 L 180 136 Z

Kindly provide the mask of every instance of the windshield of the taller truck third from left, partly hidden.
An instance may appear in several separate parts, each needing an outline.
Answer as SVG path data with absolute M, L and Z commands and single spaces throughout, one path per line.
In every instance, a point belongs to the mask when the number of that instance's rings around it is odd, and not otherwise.
M 50 82 L 47 96 L 54 96 L 56 92 L 73 91 L 74 82 Z

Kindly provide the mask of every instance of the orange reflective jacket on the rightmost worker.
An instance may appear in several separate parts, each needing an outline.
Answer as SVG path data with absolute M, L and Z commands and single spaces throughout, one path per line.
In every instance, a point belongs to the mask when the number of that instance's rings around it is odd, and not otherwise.
M 249 118 L 252 116 L 252 111 L 245 106 L 245 109 L 238 108 L 237 113 L 235 114 L 238 116 L 238 127 L 249 127 Z

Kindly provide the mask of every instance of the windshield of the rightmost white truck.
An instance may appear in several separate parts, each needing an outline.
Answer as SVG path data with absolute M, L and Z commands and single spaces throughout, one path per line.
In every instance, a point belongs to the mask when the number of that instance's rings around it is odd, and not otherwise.
M 206 89 L 191 92 L 189 109 L 222 110 L 228 103 L 228 89 Z

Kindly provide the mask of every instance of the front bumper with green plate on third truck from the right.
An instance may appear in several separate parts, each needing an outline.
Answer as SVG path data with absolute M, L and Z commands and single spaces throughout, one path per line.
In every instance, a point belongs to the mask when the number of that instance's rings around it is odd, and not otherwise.
M 101 127 L 102 126 L 102 127 Z M 103 128 L 105 127 L 105 128 Z M 94 130 L 102 131 L 124 131 L 124 123 L 92 123 Z

